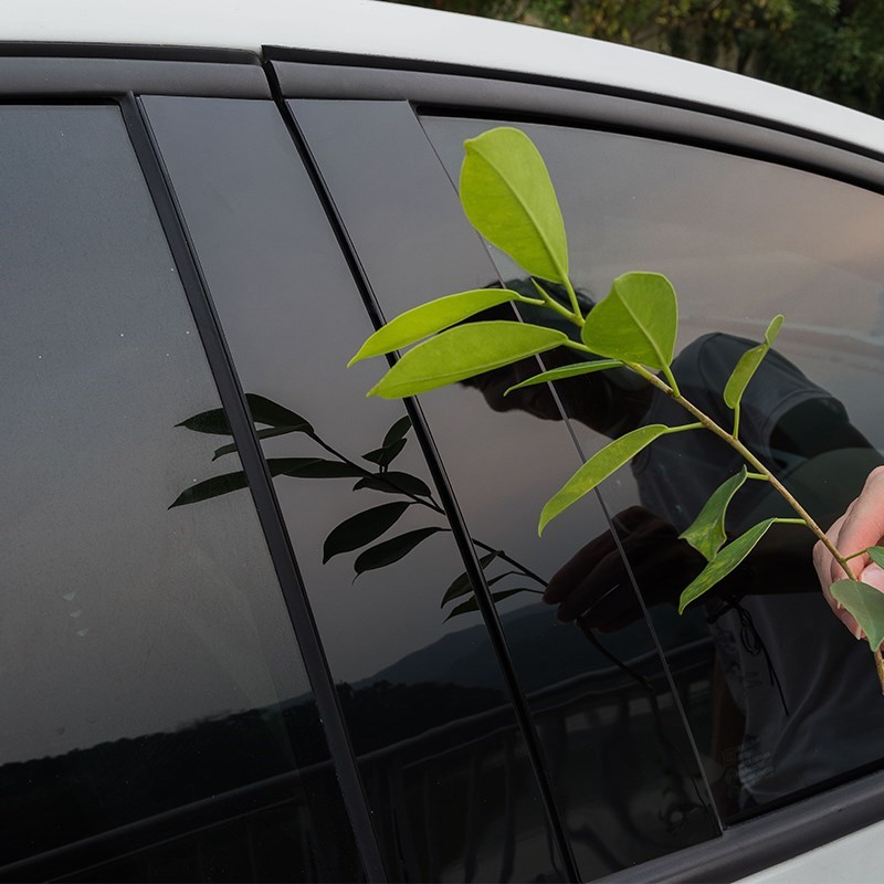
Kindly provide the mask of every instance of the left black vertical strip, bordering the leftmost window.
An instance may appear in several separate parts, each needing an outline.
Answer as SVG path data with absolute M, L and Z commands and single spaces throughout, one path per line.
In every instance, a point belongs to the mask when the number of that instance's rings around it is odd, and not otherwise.
M 175 191 L 162 165 L 159 149 L 140 103 L 127 95 L 120 103 L 123 118 L 138 162 L 162 224 L 178 269 L 206 356 L 227 412 L 243 472 L 257 511 L 271 559 L 292 621 L 304 667 L 316 698 L 316 706 L 328 740 L 338 782 L 352 825 L 364 870 L 369 882 L 386 881 L 380 849 L 371 824 L 361 780 L 344 724 L 337 692 L 318 639 L 304 582 L 288 539 L 266 461 L 248 411 L 245 396 L 233 368 L 209 287 L 193 244 L 180 214 Z

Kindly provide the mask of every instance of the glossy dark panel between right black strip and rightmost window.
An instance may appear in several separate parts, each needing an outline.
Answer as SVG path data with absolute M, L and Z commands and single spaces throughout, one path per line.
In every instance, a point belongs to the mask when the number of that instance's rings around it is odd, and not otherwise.
M 498 273 L 408 105 L 292 107 L 388 317 L 496 282 Z M 382 370 L 376 365 L 366 386 Z M 577 469 L 579 455 L 551 402 L 528 396 L 499 410 L 512 401 L 499 396 L 503 380 L 486 379 L 482 392 L 455 385 L 421 402 L 471 533 L 518 562 L 493 562 L 488 577 L 526 572 L 495 583 L 493 591 L 532 590 L 501 599 L 497 610 L 580 874 L 591 878 L 709 838 L 716 829 L 646 624 L 585 635 L 573 625 L 557 625 L 552 609 L 536 594 L 608 525 L 598 502 L 588 499 L 538 540 L 540 507 Z M 660 629 L 680 645 L 673 662 L 694 702 L 708 704 L 712 643 L 682 641 L 696 628 L 674 615 Z M 623 663 L 629 671 L 619 667 Z

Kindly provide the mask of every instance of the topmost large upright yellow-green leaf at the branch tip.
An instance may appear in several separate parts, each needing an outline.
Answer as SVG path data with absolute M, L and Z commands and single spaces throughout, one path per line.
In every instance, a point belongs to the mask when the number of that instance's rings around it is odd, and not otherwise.
M 568 241 L 543 157 L 507 126 L 464 143 L 461 202 L 470 223 L 532 276 L 565 283 Z

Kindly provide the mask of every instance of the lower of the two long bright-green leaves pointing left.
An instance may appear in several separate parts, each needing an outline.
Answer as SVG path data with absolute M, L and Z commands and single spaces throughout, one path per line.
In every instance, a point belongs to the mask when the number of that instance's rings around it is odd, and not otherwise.
M 554 328 L 507 320 L 470 323 L 418 344 L 368 396 L 399 399 L 551 350 L 568 340 Z

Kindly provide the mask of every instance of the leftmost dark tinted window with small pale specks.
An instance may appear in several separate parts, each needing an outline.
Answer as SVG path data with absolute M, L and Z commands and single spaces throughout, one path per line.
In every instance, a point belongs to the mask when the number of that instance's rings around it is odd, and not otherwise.
M 251 498 L 169 508 L 219 398 L 120 113 L 3 107 L 0 155 L 0 865 L 92 838 L 43 873 L 358 876 Z M 254 860 L 264 825 L 298 838 Z

